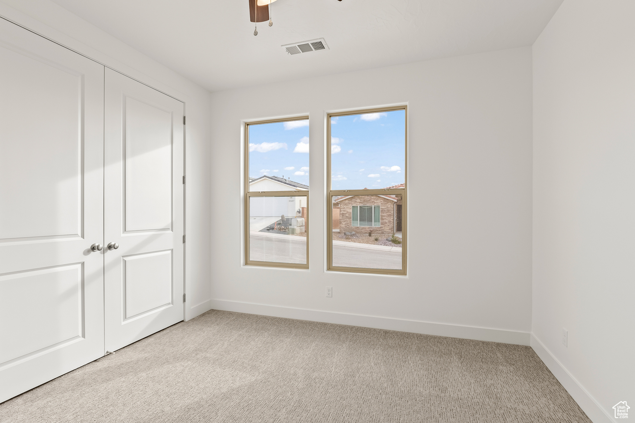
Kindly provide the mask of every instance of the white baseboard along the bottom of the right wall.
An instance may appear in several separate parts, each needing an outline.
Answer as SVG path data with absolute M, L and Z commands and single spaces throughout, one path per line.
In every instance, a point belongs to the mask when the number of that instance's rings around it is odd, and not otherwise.
M 558 361 L 558 359 L 544 346 L 542 342 L 531 334 L 531 348 L 536 352 L 540 360 L 549 368 L 551 373 L 558 379 L 558 382 L 565 387 L 566 391 L 572 396 L 573 400 L 578 403 L 582 411 L 584 411 L 593 423 L 613 422 L 613 417 L 607 413 L 584 389 L 584 386 L 573 377 L 572 374 Z

